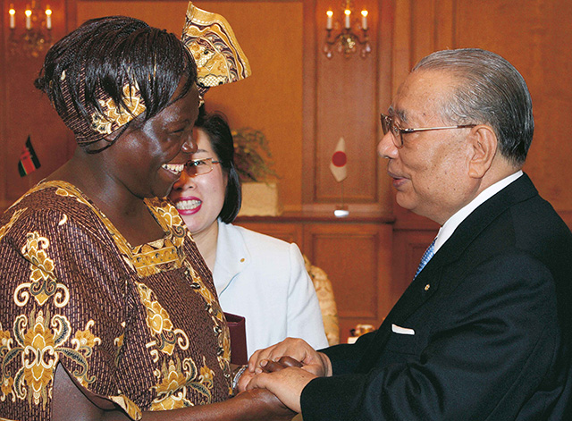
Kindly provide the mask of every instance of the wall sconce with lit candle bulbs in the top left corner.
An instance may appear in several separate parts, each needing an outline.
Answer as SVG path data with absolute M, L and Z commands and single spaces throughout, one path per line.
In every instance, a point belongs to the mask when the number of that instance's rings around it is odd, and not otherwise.
M 49 4 L 42 7 L 40 1 L 21 3 L 8 9 L 10 36 L 8 48 L 11 55 L 38 57 L 52 45 L 52 9 Z

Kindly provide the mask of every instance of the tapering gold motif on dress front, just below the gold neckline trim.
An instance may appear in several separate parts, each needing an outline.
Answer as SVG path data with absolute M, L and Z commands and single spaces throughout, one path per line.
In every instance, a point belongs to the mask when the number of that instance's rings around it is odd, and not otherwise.
M 147 326 L 156 337 L 156 341 L 147 344 L 147 348 L 156 347 L 161 352 L 171 355 L 175 342 L 181 349 L 189 348 L 189 336 L 181 329 L 173 329 L 171 317 L 159 304 L 156 295 L 146 284 L 138 282 L 137 288 L 143 305 L 147 309 Z M 152 350 L 154 357 L 154 353 Z

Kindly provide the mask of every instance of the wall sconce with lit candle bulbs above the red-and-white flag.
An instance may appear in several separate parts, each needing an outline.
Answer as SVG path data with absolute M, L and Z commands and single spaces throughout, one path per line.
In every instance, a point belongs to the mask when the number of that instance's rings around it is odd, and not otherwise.
M 332 9 L 326 12 L 326 38 L 324 41 L 324 55 L 332 58 L 332 52 L 338 53 L 349 57 L 357 52 L 362 58 L 366 58 L 372 52 L 372 47 L 369 44 L 367 37 L 367 11 L 361 11 L 361 19 L 355 19 L 352 22 L 354 15 L 353 4 L 351 0 L 344 0 L 342 2 L 343 19 L 340 21 L 333 20 Z M 355 32 L 352 30 L 352 26 Z M 332 30 L 340 31 L 338 35 L 332 34 Z M 357 33 L 356 33 L 357 32 Z M 361 32 L 361 36 L 359 34 Z

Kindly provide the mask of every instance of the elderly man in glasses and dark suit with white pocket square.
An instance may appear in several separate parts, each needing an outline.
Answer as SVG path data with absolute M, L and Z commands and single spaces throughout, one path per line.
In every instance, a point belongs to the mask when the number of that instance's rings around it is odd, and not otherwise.
M 264 372 L 248 389 L 305 421 L 572 419 L 572 234 L 521 172 L 534 131 L 525 80 L 488 51 L 433 53 L 382 124 L 398 203 L 441 230 L 377 332 L 257 351 L 249 369 Z M 303 367 L 273 372 L 282 356 Z

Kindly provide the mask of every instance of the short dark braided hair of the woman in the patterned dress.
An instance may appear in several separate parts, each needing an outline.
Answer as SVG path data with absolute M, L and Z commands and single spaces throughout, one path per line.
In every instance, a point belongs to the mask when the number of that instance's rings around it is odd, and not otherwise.
M 105 139 L 109 147 L 114 140 L 95 127 L 96 116 L 108 122 L 105 103 L 123 112 L 114 130 L 125 130 L 138 115 L 137 122 L 145 122 L 178 99 L 172 97 L 181 80 L 179 97 L 184 97 L 197 80 L 197 67 L 174 34 L 138 19 L 109 16 L 86 21 L 52 46 L 35 85 L 46 92 L 80 146 Z M 137 114 L 126 104 L 126 88 L 137 91 L 142 102 Z

